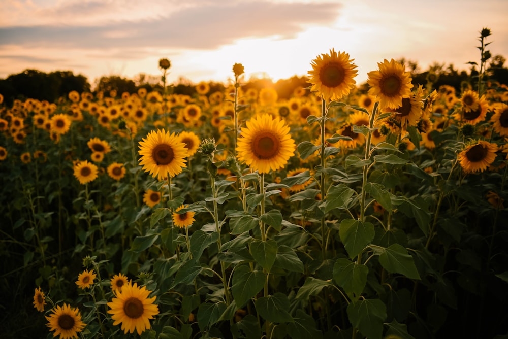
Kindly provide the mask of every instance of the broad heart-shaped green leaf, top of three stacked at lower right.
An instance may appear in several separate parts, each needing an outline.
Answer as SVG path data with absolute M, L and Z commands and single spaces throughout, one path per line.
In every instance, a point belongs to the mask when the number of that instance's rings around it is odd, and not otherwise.
M 350 258 L 354 258 L 374 239 L 374 225 L 367 221 L 344 219 L 340 223 L 339 236 Z

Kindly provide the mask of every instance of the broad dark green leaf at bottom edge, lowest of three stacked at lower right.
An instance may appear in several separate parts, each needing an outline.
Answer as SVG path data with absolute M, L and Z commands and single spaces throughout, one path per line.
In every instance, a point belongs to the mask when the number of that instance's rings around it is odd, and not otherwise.
M 362 299 L 347 306 L 347 317 L 360 333 L 369 339 L 381 339 L 386 306 L 379 299 Z

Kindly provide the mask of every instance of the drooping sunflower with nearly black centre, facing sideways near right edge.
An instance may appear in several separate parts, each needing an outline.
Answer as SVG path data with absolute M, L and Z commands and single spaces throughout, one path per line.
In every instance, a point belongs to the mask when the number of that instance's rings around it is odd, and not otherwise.
M 479 140 L 459 153 L 460 165 L 464 172 L 483 172 L 496 158 L 497 145 Z

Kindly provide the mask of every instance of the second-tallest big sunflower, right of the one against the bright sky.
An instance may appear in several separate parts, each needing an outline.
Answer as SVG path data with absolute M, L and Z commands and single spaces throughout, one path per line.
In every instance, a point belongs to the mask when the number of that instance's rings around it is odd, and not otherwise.
M 402 99 L 411 96 L 411 76 L 405 66 L 394 59 L 378 62 L 378 71 L 367 74 L 371 86 L 369 94 L 376 97 L 381 109 L 402 106 Z

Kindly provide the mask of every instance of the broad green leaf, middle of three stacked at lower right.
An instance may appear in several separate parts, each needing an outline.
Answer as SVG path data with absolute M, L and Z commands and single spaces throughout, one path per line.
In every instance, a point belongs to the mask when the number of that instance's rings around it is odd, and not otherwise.
M 346 258 L 337 259 L 333 265 L 333 281 L 342 287 L 351 299 L 358 299 L 362 294 L 368 273 L 367 266 Z

